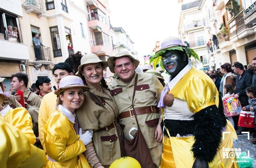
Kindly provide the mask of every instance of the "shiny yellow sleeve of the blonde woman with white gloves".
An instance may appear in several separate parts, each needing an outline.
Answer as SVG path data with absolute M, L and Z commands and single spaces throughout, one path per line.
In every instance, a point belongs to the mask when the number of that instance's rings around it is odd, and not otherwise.
M 73 130 L 69 120 L 61 112 L 53 113 L 45 124 L 46 152 L 57 162 L 71 159 L 86 150 L 82 140 L 77 140 L 72 145 L 66 146 L 70 131 Z

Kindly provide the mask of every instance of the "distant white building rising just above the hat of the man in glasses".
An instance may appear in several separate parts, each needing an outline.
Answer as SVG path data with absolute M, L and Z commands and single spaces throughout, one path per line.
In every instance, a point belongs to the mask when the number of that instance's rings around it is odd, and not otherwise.
M 138 53 L 134 49 L 134 42 L 122 27 L 114 27 L 113 47 L 118 51 L 127 51 L 134 58 L 138 59 Z

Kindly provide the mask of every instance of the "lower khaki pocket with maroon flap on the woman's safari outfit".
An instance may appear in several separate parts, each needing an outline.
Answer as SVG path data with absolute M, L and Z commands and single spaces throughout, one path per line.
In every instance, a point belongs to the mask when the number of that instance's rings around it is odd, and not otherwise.
M 118 137 L 115 134 L 109 136 L 102 136 L 101 134 L 101 144 L 104 161 L 112 161 L 119 157 L 116 156 L 118 152 L 115 151 L 117 149 L 120 150 L 120 145 L 117 144 L 119 143 L 119 141 L 117 139 Z

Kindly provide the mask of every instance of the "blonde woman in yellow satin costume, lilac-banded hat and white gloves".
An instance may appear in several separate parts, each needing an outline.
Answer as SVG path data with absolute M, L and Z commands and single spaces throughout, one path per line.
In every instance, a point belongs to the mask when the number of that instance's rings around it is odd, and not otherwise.
M 54 92 L 57 95 L 56 111 L 45 124 L 45 149 L 48 154 L 46 168 L 90 168 L 82 154 L 92 134 L 81 134 L 74 114 L 84 101 L 83 92 L 89 90 L 78 76 L 65 76 Z M 79 134 L 80 133 L 80 134 Z

